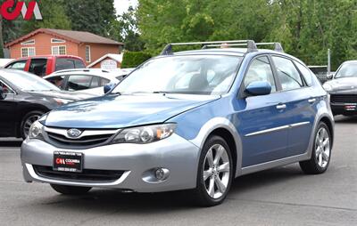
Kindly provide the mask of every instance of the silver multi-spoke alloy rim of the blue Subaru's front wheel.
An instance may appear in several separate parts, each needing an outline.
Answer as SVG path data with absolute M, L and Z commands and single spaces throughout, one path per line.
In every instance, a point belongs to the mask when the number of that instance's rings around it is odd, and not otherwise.
M 211 198 L 221 198 L 228 187 L 230 162 L 227 149 L 220 144 L 213 145 L 203 161 L 203 183 Z

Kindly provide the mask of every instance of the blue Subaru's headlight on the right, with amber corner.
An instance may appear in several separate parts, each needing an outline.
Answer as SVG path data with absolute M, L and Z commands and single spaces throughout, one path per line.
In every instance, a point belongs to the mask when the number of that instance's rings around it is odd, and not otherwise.
M 112 143 L 151 143 L 168 138 L 174 133 L 175 124 L 147 125 L 124 129 L 118 133 Z

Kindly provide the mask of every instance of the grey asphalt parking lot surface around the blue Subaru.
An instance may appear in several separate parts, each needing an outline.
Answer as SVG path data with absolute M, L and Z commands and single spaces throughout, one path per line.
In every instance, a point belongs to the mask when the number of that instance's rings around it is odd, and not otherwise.
M 356 225 L 357 117 L 336 117 L 328 172 L 286 165 L 238 178 L 221 206 L 190 206 L 185 192 L 92 190 L 58 195 L 22 181 L 21 141 L 0 140 L 0 225 Z

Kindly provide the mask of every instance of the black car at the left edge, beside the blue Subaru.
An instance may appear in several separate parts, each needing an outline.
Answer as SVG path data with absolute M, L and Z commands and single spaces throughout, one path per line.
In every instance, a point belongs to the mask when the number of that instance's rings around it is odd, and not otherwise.
M 62 92 L 25 71 L 0 69 L 0 137 L 26 138 L 30 125 L 47 111 L 89 97 Z

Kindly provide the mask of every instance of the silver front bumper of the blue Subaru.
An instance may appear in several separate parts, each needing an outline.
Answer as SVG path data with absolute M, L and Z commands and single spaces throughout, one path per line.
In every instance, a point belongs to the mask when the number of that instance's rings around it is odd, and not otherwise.
M 34 165 L 52 167 L 54 151 L 73 151 L 84 154 L 84 169 L 124 172 L 111 182 L 66 180 L 38 174 Z M 112 144 L 92 149 L 59 149 L 40 140 L 26 140 L 21 146 L 21 163 L 26 182 L 45 182 L 60 185 L 113 188 L 137 192 L 187 190 L 196 186 L 200 149 L 177 134 L 150 144 Z M 163 181 L 151 180 L 153 169 L 170 170 Z

